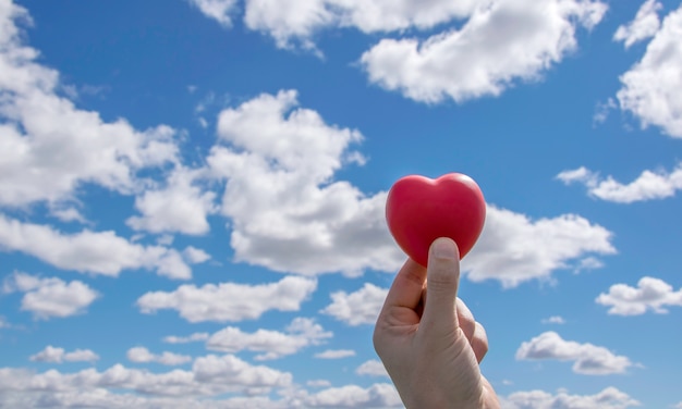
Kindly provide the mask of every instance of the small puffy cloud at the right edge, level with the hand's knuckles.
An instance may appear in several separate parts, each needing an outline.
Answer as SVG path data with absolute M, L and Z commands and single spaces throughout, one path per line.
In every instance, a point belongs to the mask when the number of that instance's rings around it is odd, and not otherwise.
M 674 290 L 660 278 L 642 277 L 637 287 L 616 284 L 608 293 L 600 294 L 597 303 L 610 307 L 609 313 L 616 315 L 641 315 L 647 310 L 667 313 L 668 306 L 682 307 L 682 288 Z

